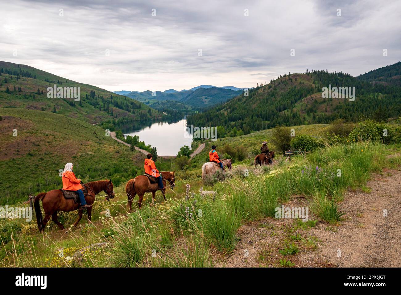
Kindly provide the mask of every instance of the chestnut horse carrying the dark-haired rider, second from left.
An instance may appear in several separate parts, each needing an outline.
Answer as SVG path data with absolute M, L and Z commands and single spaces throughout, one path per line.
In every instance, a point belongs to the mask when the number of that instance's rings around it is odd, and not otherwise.
M 166 181 L 170 183 L 171 189 L 175 186 L 175 175 L 174 172 L 161 171 L 160 172 L 163 177 L 163 186 L 164 189 L 161 189 L 164 201 L 166 201 Z M 142 201 L 144 199 L 145 193 L 152 193 L 152 205 L 155 201 L 156 191 L 159 191 L 158 183 L 150 183 L 149 177 L 146 175 L 138 175 L 134 179 L 130 179 L 126 184 L 126 193 L 128 197 L 127 209 L 129 212 L 132 212 L 132 201 L 134 200 L 135 195 L 138 195 L 139 209 L 142 207 Z

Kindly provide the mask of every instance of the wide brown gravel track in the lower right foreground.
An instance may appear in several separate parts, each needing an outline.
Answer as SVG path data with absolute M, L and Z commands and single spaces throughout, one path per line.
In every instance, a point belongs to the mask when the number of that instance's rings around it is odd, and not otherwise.
M 338 204 L 346 212 L 338 226 L 318 222 L 300 229 L 293 220 L 264 218 L 239 228 L 240 238 L 233 253 L 214 253 L 216 265 L 225 267 L 280 266 L 286 258 L 295 267 L 401 267 L 401 171 L 373 174 L 369 189 L 349 190 Z M 304 198 L 288 206 L 308 206 Z M 300 235 L 300 239 L 294 236 Z M 300 252 L 282 256 L 285 241 L 295 242 Z

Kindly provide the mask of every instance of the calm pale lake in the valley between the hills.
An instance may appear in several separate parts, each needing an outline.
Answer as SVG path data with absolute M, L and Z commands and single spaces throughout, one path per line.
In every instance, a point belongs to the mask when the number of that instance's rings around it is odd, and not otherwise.
M 191 147 L 192 135 L 186 132 L 186 120 L 178 122 L 146 122 L 133 123 L 119 126 L 119 129 L 127 135 L 138 135 L 145 144 L 156 146 L 159 156 L 175 156 L 181 146 Z

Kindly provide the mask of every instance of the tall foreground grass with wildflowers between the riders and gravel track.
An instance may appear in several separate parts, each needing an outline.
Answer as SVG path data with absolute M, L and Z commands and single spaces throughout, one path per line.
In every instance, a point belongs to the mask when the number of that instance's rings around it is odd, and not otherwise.
M 253 136 L 259 142 L 265 134 Z M 158 192 L 156 205 L 150 206 L 148 193 L 142 210 L 130 214 L 126 212 L 122 183 L 115 188 L 116 197 L 111 202 L 97 198 L 93 223 L 84 217 L 79 228 L 61 231 L 49 222 L 43 235 L 34 221 L 1 220 L 0 265 L 212 267 L 217 256 L 229 255 L 235 249 L 237 230 L 242 224 L 274 218 L 276 207 L 301 196 L 309 208 L 308 222 L 295 222 L 286 229 L 288 239 L 278 249 L 280 262 L 260 264 L 294 266 L 290 261 L 293 255 L 314 248 L 305 246 L 313 239 L 302 238 L 302 230 L 316 222 L 340 226 L 347 212 L 340 212 L 337 204 L 343 200 L 344 192 L 364 189 L 372 172 L 383 174 L 384 168 L 400 169 L 400 150 L 400 144 L 360 141 L 327 145 L 290 162 L 279 155 L 271 166 L 255 167 L 247 159 L 236 162 L 230 173 L 209 186 L 198 177 L 177 180 L 174 191 L 168 190 L 166 202 Z M 107 209 L 110 217 L 105 214 Z M 59 213 L 66 227 L 76 215 Z M 84 248 L 89 245 L 95 246 Z M 83 250 L 79 252 L 80 249 Z

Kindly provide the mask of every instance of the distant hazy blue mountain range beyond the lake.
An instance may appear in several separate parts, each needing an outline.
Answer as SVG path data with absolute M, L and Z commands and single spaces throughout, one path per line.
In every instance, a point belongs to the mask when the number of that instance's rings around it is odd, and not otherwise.
M 242 92 L 242 88 L 234 86 L 216 87 L 213 85 L 199 85 L 189 90 L 184 89 L 181 91 L 168 89 L 164 92 L 152 92 L 146 90 L 143 92 L 118 91 L 114 93 L 128 96 L 140 102 L 144 102 L 152 108 L 162 110 L 163 108 L 174 105 L 171 102 L 167 103 L 167 101 L 178 102 L 179 104 L 175 105 L 179 105 L 181 109 L 188 109 L 189 106 L 195 108 L 206 108 L 226 102 L 227 100 L 240 95 Z

